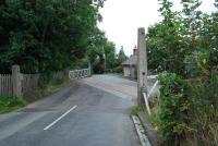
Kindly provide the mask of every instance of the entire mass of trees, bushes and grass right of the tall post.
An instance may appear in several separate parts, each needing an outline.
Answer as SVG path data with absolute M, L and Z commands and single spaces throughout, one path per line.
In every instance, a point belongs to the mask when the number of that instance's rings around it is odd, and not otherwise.
M 218 8 L 218 1 L 215 5 Z M 160 0 L 162 21 L 146 35 L 149 69 L 159 75 L 158 126 L 167 146 L 217 145 L 218 12 L 199 11 L 201 0 Z

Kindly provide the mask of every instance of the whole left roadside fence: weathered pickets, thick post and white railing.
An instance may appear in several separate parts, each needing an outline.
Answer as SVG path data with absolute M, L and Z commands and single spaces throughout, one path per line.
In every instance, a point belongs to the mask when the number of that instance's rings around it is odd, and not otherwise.
M 89 69 L 60 71 L 52 74 L 51 84 L 69 75 L 70 78 L 82 78 L 90 75 Z M 12 66 L 12 74 L 0 74 L 0 96 L 22 96 L 39 86 L 40 74 L 22 74 L 20 66 Z

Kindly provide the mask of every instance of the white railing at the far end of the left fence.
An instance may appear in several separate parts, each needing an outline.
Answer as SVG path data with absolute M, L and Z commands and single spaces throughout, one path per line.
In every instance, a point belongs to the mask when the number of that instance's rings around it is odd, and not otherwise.
M 90 69 L 74 70 L 69 72 L 70 80 L 84 78 L 90 76 Z

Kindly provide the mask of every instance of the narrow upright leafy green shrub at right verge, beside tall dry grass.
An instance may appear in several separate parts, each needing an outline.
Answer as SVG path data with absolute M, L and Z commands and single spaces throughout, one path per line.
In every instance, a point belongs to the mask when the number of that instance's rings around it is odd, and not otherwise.
M 159 126 L 168 146 L 177 146 L 187 129 L 185 113 L 189 104 L 183 97 L 183 83 L 180 76 L 167 72 L 161 73 L 158 80 L 161 84 Z

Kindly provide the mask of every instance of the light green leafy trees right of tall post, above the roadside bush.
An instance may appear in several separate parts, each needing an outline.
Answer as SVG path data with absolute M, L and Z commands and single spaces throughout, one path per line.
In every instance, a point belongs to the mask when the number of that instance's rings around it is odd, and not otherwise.
M 198 11 L 201 1 L 182 0 L 182 11 L 172 11 L 173 2 L 161 0 L 164 20 L 148 28 L 148 64 L 157 71 L 184 77 L 207 75 L 217 65 L 217 13 Z

